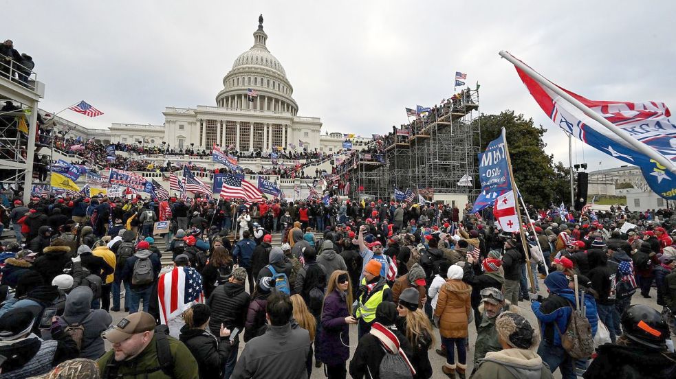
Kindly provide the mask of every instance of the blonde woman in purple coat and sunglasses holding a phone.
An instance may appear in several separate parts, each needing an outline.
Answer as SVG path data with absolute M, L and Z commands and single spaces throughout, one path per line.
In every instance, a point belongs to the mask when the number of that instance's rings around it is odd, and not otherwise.
M 347 271 L 331 274 L 322 308 L 322 332 L 317 341 L 317 358 L 325 364 L 329 379 L 345 379 L 345 363 L 350 358 L 349 324 L 357 320 L 350 316 L 352 284 Z

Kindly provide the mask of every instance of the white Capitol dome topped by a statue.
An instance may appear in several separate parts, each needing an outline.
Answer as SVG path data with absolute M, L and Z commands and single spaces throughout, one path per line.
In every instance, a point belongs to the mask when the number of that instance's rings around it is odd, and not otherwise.
M 298 113 L 294 89 L 279 60 L 268 50 L 268 34 L 263 32 L 263 16 L 254 32 L 254 45 L 240 54 L 223 78 L 223 89 L 216 104 L 223 108 L 276 113 Z M 249 96 L 251 90 L 254 96 Z M 253 100 L 253 101 L 250 101 Z

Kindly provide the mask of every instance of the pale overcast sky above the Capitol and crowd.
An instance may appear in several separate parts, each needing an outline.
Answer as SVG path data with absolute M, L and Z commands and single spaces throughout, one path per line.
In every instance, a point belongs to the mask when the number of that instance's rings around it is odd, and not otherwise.
M 453 95 L 455 71 L 481 84 L 481 112 L 513 109 L 565 135 L 499 58 L 505 49 L 593 100 L 666 102 L 676 111 L 676 3 L 655 1 L 8 1 L 3 40 L 36 62 L 41 108 L 85 100 L 105 115 L 63 117 L 91 128 L 162 124 L 166 106 L 215 105 L 223 76 L 253 45 L 263 13 L 268 49 L 287 72 L 301 116 L 326 130 L 386 133 L 404 107 Z M 9 15 L 12 16 L 9 16 Z M 21 15 L 21 16 L 20 16 Z M 574 144 L 591 170 L 623 164 Z

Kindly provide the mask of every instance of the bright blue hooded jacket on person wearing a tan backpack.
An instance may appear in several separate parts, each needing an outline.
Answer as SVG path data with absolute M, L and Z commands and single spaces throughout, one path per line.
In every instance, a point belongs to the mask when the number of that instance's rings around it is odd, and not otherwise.
M 541 321 L 543 339 L 552 343 L 552 345 L 560 346 L 561 337 L 554 323 L 558 325 L 562 333 L 565 333 L 573 310 L 571 304 L 575 305 L 575 292 L 568 288 L 568 279 L 560 271 L 547 275 L 545 286 L 549 289 L 549 297 L 542 303 L 534 301 L 531 308 L 538 320 Z M 596 301 L 592 295 L 585 294 L 585 306 L 587 307 L 587 319 L 589 319 L 591 325 L 591 334 L 596 335 L 598 314 L 596 313 Z

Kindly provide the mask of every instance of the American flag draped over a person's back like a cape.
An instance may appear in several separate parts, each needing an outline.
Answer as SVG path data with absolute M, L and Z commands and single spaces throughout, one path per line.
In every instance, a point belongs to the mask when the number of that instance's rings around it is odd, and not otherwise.
M 194 303 L 204 302 L 202 277 L 192 267 L 175 267 L 160 276 L 157 282 L 157 298 L 160 303 L 160 321 L 180 316 Z

